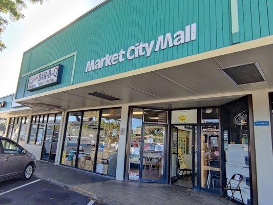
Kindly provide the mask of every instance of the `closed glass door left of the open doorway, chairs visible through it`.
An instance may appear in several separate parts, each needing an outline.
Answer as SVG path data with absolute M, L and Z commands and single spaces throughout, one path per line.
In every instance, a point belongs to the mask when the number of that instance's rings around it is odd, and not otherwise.
M 166 127 L 143 125 L 142 133 L 140 180 L 164 182 Z

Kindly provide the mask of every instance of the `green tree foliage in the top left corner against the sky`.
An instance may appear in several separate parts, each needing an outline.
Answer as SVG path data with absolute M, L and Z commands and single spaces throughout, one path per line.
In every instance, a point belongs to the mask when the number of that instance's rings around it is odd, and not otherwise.
M 26 2 L 31 4 L 40 3 L 43 4 L 44 0 L 0 0 L 0 36 L 4 32 L 9 20 L 12 22 L 24 18 L 22 9 L 27 8 Z M 2 52 L 6 48 L 0 37 L 0 51 Z

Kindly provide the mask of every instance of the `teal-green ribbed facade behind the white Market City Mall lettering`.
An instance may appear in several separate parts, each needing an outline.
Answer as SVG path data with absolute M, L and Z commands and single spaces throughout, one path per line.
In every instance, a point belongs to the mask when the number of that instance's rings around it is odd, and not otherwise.
M 230 0 L 108 1 L 24 53 L 16 99 L 273 34 L 273 1 L 238 0 L 238 33 L 233 33 L 230 4 Z M 85 72 L 89 60 L 156 41 L 193 23 L 194 41 Z M 58 64 L 64 66 L 60 84 L 27 91 L 30 75 Z

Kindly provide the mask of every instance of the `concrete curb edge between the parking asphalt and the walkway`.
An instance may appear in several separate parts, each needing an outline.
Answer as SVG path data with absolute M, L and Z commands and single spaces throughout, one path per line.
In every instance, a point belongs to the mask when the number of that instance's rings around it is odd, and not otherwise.
M 100 203 L 106 203 L 108 205 L 123 205 L 122 203 L 118 203 L 116 201 L 113 201 L 113 200 L 110 200 L 110 199 L 107 199 L 107 198 L 102 198 L 100 196 L 98 196 L 97 194 L 94 194 L 94 193 L 91 193 L 91 192 L 88 192 L 86 190 L 82 190 L 82 189 L 79 189 L 79 188 L 76 188 L 76 187 L 73 187 L 73 186 L 70 186 L 70 185 L 66 185 L 65 183 L 62 183 L 62 182 L 59 182 L 59 181 L 56 181 L 54 179 L 51 179 L 51 178 L 48 178 L 48 177 L 45 177 L 43 175 L 40 175 L 40 174 L 37 174 L 37 173 L 33 173 L 33 176 L 36 176 L 40 179 L 44 179 L 50 183 L 53 183 L 54 185 L 57 185 L 59 187 L 62 187 L 62 188 L 65 188 L 65 189 L 70 189 L 74 192 L 77 192 L 79 194 L 82 194 L 82 195 L 85 195 L 89 198 L 92 198 Z

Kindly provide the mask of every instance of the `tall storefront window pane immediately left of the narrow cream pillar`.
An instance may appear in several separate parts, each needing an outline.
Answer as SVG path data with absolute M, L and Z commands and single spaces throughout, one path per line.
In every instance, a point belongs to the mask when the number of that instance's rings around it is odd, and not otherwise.
M 102 110 L 96 172 L 116 176 L 121 109 Z

